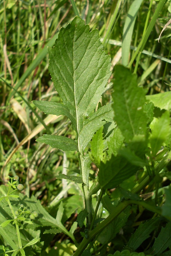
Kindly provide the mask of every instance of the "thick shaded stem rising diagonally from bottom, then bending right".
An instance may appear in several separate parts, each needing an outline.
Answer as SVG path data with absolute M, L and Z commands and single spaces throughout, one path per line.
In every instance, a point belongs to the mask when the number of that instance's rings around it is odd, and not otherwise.
M 124 202 L 120 203 L 116 208 L 115 211 L 112 212 L 105 220 L 103 220 L 95 229 L 89 232 L 89 237 L 83 238 L 83 241 L 79 245 L 76 252 L 73 256 L 81 256 L 83 251 L 86 249 L 88 244 L 99 234 L 104 228 L 106 228 L 123 210 L 131 204 L 142 205 L 144 208 L 151 210 L 157 214 L 161 215 L 161 208 L 155 207 L 153 205 L 149 205 L 144 201 L 136 201 L 136 200 L 125 200 Z

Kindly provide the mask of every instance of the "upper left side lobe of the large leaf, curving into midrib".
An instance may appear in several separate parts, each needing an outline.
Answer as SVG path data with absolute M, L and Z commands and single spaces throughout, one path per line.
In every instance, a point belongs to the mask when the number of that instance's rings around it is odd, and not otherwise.
M 67 108 L 66 105 L 53 102 L 53 101 L 45 101 L 45 100 L 33 100 L 32 102 L 36 107 L 42 110 L 45 114 L 67 116 L 71 120 L 74 130 L 77 131 L 76 120 L 70 114 L 70 110 Z

